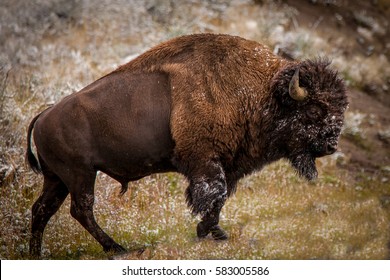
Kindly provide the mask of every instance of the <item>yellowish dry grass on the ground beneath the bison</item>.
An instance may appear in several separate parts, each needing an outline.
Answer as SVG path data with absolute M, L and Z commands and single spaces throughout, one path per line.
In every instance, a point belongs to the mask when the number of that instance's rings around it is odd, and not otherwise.
M 199 241 L 184 201 L 185 180 L 155 175 L 120 186 L 101 174 L 95 214 L 99 224 L 128 249 L 130 259 L 383 259 L 387 257 L 388 213 L 369 186 L 351 185 L 333 163 L 320 163 L 322 176 L 307 183 L 284 162 L 245 178 L 221 217 L 230 239 Z M 29 174 L 29 172 L 26 172 Z M 31 175 L 31 174 L 30 174 Z M 24 176 L 25 177 L 25 176 Z M 37 185 L 2 193 L 2 258 L 26 258 L 30 205 Z M 29 187 L 27 187 L 29 186 Z M 384 185 L 377 185 L 384 188 Z M 11 189 L 11 192 L 9 192 Z M 4 188 L 2 188 L 4 190 Z M 8 209 L 6 211 L 4 208 Z M 69 215 L 69 200 L 49 222 L 43 256 L 100 259 L 100 245 Z

